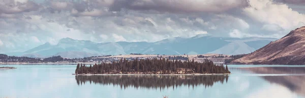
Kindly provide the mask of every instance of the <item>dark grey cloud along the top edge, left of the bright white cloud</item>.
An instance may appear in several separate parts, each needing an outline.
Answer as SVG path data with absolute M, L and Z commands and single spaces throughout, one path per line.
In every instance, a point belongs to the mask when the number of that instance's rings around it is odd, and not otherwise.
M 224 12 L 234 8 L 247 7 L 246 0 L 214 0 L 214 1 L 188 1 L 188 0 L 117 0 L 110 7 L 112 11 L 119 11 L 123 8 L 132 10 L 156 10 L 160 12 L 190 13 L 190 12 Z

